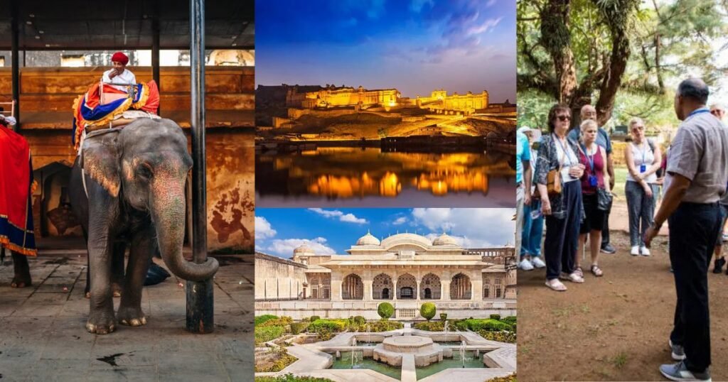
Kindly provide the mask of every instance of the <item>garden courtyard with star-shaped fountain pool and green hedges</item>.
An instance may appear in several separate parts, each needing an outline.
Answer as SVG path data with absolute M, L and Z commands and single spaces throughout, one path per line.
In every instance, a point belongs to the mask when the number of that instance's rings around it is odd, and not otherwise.
M 390 320 L 389 303 L 377 313 L 256 317 L 256 382 L 515 380 L 516 317 L 448 319 L 432 303 L 420 307 L 427 321 Z

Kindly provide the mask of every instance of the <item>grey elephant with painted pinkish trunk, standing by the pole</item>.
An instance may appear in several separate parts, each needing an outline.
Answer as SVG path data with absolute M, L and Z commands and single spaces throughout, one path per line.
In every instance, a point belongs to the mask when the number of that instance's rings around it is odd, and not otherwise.
M 170 119 L 136 119 L 122 128 L 87 135 L 68 188 L 87 236 L 90 333 L 111 333 L 117 320 L 130 326 L 146 324 L 141 292 L 157 250 L 181 279 L 202 281 L 218 270 L 214 258 L 191 263 L 182 255 L 185 185 L 191 167 L 187 139 Z M 130 255 L 115 317 L 112 278 L 124 274 L 119 273 L 118 259 L 123 268 L 127 244 Z

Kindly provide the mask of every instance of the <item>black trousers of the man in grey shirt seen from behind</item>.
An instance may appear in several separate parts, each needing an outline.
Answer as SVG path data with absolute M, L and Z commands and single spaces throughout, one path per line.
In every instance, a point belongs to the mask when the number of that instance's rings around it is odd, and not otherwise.
M 702 373 L 711 365 L 708 312 L 708 264 L 721 230 L 717 203 L 681 203 L 669 219 L 670 263 L 677 305 L 670 340 L 685 348 L 688 370 Z

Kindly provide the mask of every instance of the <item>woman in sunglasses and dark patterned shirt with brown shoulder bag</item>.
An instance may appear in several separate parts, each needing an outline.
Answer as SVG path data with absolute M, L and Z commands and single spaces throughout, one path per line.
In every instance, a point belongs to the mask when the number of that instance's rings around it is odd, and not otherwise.
M 555 105 L 548 114 L 550 134 L 542 138 L 536 164 L 536 184 L 546 217 L 546 286 L 563 292 L 566 286 L 559 277 L 571 282 L 584 282 L 574 269 L 579 224 L 584 218 L 582 206 L 582 178 L 585 166 L 579 163 L 576 141 L 566 138 L 571 122 L 569 106 Z M 556 170 L 561 175 L 561 192 L 548 194 L 548 173 Z

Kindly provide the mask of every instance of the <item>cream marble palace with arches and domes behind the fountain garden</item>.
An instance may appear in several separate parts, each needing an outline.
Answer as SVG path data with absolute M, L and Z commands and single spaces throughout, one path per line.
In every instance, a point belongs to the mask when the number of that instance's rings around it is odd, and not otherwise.
M 513 247 L 464 249 L 447 234 L 380 242 L 368 233 L 347 252 L 319 255 L 303 245 L 290 260 L 256 253 L 256 314 L 377 319 L 389 301 L 397 319 L 421 319 L 424 302 L 448 318 L 515 315 Z

